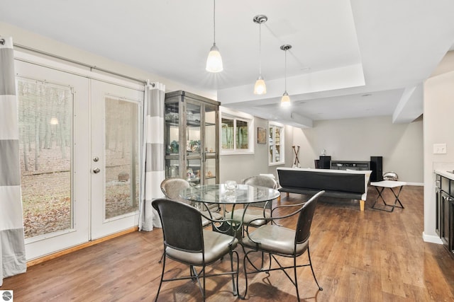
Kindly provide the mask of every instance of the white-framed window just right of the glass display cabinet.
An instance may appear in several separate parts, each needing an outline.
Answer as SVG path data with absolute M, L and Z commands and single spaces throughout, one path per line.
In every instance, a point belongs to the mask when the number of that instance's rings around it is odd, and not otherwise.
M 221 153 L 253 153 L 253 117 L 221 108 Z

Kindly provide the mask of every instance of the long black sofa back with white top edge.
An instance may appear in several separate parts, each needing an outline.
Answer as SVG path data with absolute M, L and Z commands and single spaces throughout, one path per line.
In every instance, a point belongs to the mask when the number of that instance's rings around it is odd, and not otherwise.
M 365 193 L 365 174 L 338 170 L 277 168 L 281 187 Z

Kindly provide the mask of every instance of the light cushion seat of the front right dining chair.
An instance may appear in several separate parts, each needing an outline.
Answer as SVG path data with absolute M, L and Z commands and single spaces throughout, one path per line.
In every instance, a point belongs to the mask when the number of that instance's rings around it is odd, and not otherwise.
M 258 242 L 258 246 L 250 240 Z M 241 244 L 245 248 L 258 248 L 264 252 L 272 252 L 279 255 L 301 255 L 306 251 L 309 240 L 297 244 L 297 250 L 294 250 L 295 232 L 289 228 L 265 224 L 255 231 L 245 236 Z

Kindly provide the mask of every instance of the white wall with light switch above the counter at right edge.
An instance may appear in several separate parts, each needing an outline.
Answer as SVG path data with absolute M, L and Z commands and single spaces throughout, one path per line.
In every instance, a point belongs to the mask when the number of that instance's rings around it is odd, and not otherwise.
M 434 166 L 454 166 L 454 52 L 448 52 L 433 76 L 424 83 L 424 232 L 429 242 L 436 235 Z M 433 154 L 433 144 L 445 143 L 447 153 Z

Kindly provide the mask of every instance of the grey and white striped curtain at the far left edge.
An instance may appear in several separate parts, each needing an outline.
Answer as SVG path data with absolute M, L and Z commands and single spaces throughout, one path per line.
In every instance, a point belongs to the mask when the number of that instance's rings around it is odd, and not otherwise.
M 13 39 L 0 37 L 0 286 L 26 272 Z

